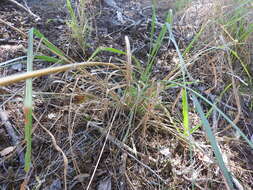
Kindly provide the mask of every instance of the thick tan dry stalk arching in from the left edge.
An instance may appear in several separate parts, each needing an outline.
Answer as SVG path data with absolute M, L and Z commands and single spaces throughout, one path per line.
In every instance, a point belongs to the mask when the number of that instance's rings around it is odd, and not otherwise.
M 91 67 L 91 66 L 110 66 L 110 67 L 119 69 L 119 67 L 113 63 L 103 63 L 103 62 L 72 63 L 68 65 L 63 65 L 63 66 L 51 67 L 51 68 L 46 68 L 46 69 L 40 69 L 37 71 L 25 72 L 21 74 L 2 77 L 0 78 L 0 86 L 6 86 L 8 84 L 16 83 L 16 82 L 26 80 L 29 78 L 41 77 L 41 76 L 49 75 L 52 73 L 67 71 L 70 69 L 77 69 L 79 67 Z

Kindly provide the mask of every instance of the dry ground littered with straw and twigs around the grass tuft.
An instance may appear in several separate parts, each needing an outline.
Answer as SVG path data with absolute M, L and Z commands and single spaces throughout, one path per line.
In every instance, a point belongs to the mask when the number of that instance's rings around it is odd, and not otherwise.
M 193 39 L 201 26 L 203 20 L 200 18 L 206 16 L 206 9 L 212 6 L 208 2 L 201 8 L 203 13 L 196 13 L 189 8 L 188 14 L 179 12 L 176 15 L 174 35 L 181 48 Z M 157 29 L 160 29 L 159 23 L 163 23 L 167 10 L 173 8 L 173 3 L 160 1 Z M 70 38 L 65 22 L 66 7 L 62 1 L 33 0 L 28 1 L 28 6 L 40 20 L 8 0 L 0 1 L 1 77 L 25 71 L 23 60 L 14 65 L 7 65 L 6 61 L 26 55 L 27 31 L 31 27 L 39 29 L 49 41 L 76 61 L 87 59 L 100 46 L 125 50 L 126 35 L 129 36 L 132 53 L 141 64 L 145 65 L 147 61 L 151 27 L 149 1 L 103 0 L 88 4 L 92 31 L 87 39 L 89 47 L 85 54 Z M 195 10 L 196 7 L 192 9 Z M 171 74 L 177 64 L 174 46 L 166 43 L 166 40 L 168 39 L 165 39 L 152 71 L 154 81 Z M 115 58 L 112 53 L 101 53 L 97 59 L 117 62 L 125 58 Z M 226 66 L 221 65 L 222 68 L 216 71 L 214 64 L 218 59 L 219 57 L 207 55 L 190 68 L 193 77 L 203 81 L 195 88 L 210 99 L 217 97 L 225 87 L 221 70 L 223 72 Z M 38 61 L 34 63 L 34 69 L 49 65 L 51 63 Z M 180 126 L 182 122 L 179 88 L 171 88 L 161 95 L 172 110 L 168 114 L 173 119 L 158 111 L 148 121 L 144 121 L 143 114 L 136 114 L 130 120 L 131 110 L 124 107 L 118 109 L 112 103 L 112 98 L 108 97 L 106 88 L 103 88 L 104 82 L 109 81 L 110 70 L 96 68 L 88 71 L 83 71 L 82 74 L 66 72 L 34 80 L 32 169 L 28 174 L 23 170 L 24 83 L 0 87 L 0 151 L 4 150 L 0 157 L 1 189 L 19 189 L 24 181 L 29 189 L 64 189 L 63 156 L 55 149 L 51 137 L 41 126 L 51 132 L 67 156 L 68 189 L 86 189 L 89 182 L 90 189 L 98 190 L 191 189 L 193 186 L 195 189 L 226 189 L 204 132 L 199 130 L 194 134 L 198 148 L 194 148 L 193 157 L 188 143 L 175 134 L 173 126 Z M 171 76 L 176 75 L 172 73 Z M 114 85 L 115 83 L 110 88 Z M 223 105 L 224 112 L 235 116 L 237 109 L 233 103 L 234 98 L 231 93 L 226 93 L 225 96 L 226 102 L 219 106 Z M 192 125 L 199 124 L 199 118 L 193 110 L 190 111 L 190 117 Z M 231 129 L 223 131 L 225 127 L 220 129 L 221 126 L 227 126 L 227 123 L 217 117 L 219 116 L 214 115 L 210 120 L 213 125 L 219 121 L 216 124 L 220 132 L 218 139 L 229 160 L 230 170 L 245 189 L 252 189 L 252 151 L 243 141 L 229 138 L 234 132 Z M 252 132 L 252 118 L 244 101 L 238 125 L 246 134 Z M 148 126 L 145 131 L 142 129 L 143 123 Z M 129 126 L 132 126 L 130 131 Z M 108 128 L 109 135 L 106 130 Z M 127 134 L 129 138 L 126 140 Z M 226 138 L 222 138 L 223 135 Z M 12 150 L 14 146 L 16 149 Z

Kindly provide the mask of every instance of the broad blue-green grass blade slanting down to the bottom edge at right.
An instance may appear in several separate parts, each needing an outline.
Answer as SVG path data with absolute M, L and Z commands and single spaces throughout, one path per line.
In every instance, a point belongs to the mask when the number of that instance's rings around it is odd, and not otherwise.
M 220 166 L 220 169 L 227 181 L 227 184 L 228 186 L 231 188 L 231 189 L 234 189 L 234 185 L 233 185 L 233 180 L 232 180 L 232 177 L 223 161 L 223 158 L 222 158 L 222 155 L 221 155 L 221 152 L 218 148 L 218 145 L 217 145 L 217 141 L 212 133 L 212 129 L 210 127 L 210 124 L 207 120 L 207 118 L 205 117 L 205 114 L 203 112 L 203 109 L 202 107 L 200 106 L 200 103 L 198 101 L 198 99 L 196 98 L 195 95 L 192 95 L 192 100 L 193 100 L 193 103 L 195 105 L 195 108 L 196 108 L 196 111 L 198 112 L 200 118 L 201 118 L 201 121 L 203 123 L 203 126 L 204 126 L 204 129 L 205 129 L 205 132 L 206 132 L 206 135 L 211 143 L 211 146 L 212 146 L 212 149 L 214 151 L 214 154 L 215 154 L 215 157 L 217 159 L 217 162 Z

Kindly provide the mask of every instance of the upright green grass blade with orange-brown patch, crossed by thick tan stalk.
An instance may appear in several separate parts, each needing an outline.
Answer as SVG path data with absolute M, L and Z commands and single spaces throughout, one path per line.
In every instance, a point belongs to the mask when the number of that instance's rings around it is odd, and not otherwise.
M 33 70 L 33 28 L 28 33 L 28 52 L 27 52 L 27 72 Z M 31 166 L 32 154 L 32 79 L 26 80 L 25 100 L 24 100 L 24 115 L 25 115 L 25 171 L 28 172 Z

